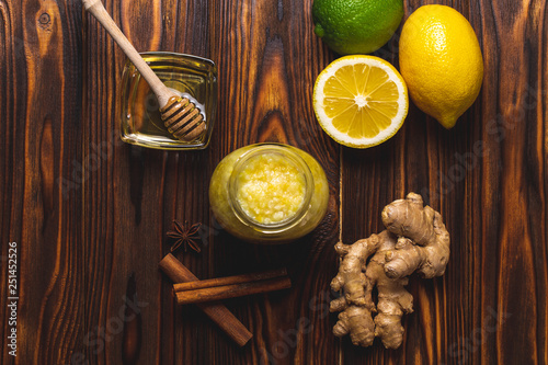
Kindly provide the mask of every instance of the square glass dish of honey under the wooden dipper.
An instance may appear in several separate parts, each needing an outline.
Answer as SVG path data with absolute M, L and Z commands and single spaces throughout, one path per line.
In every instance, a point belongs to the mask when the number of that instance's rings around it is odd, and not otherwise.
M 190 96 L 204 112 L 207 127 L 194 140 L 182 141 L 175 138 L 163 125 L 155 93 L 128 60 L 122 75 L 118 96 L 122 140 L 168 150 L 206 148 L 217 109 L 217 68 L 214 61 L 168 52 L 149 52 L 141 56 L 168 88 L 180 95 Z

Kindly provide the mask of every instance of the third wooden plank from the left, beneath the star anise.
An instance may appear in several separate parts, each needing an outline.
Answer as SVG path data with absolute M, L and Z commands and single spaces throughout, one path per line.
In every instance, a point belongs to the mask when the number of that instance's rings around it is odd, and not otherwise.
M 165 20 L 170 20 L 170 28 L 165 26 L 165 34 L 171 33 L 165 39 L 172 42 L 165 44 L 165 49 L 210 58 L 210 2 L 175 1 L 175 4 L 176 7 L 170 10 L 171 14 L 164 15 Z M 168 4 L 165 8 L 168 9 Z M 209 153 L 208 148 L 169 157 L 163 203 L 164 232 L 168 227 L 172 227 L 172 220 L 178 219 L 189 224 L 204 223 L 201 236 L 208 236 L 209 208 L 206 186 L 210 176 Z M 196 276 L 206 278 L 212 277 L 212 248 L 206 241 L 201 254 L 179 252 L 178 256 Z M 159 364 L 213 363 L 209 357 L 215 356 L 215 349 L 233 349 L 232 340 L 196 307 L 176 306 L 172 299 L 171 283 L 165 280 L 162 282 L 160 299 L 162 307 L 168 310 L 162 316 L 162 322 L 168 326 L 161 330 L 162 351 Z

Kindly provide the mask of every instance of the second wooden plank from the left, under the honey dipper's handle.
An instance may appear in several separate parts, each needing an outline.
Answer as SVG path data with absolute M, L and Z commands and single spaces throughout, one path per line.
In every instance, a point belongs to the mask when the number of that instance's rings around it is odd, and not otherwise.
M 105 8 L 139 50 L 157 48 L 161 41 L 160 2 L 135 21 L 134 12 L 146 4 L 106 1 Z M 162 244 L 162 181 L 164 157 L 161 152 L 123 144 L 118 137 L 121 92 L 125 56 L 106 32 L 84 13 L 84 133 L 83 166 L 93 171 L 84 183 L 84 250 L 89 267 L 87 287 L 88 339 L 85 361 L 93 364 L 122 363 L 125 295 L 130 277 L 135 280 L 133 305 L 140 322 L 133 327 L 135 338 L 158 339 L 160 275 L 156 261 Z M 100 146 L 101 149 L 98 149 Z M 94 160 L 99 160 L 95 162 Z M 98 167 L 94 167 L 98 163 Z M 148 207 L 148 208 L 147 208 Z M 155 281 L 156 280 L 156 281 Z M 132 316 L 133 317 L 133 316 Z M 148 341 L 148 340 L 146 340 Z M 159 357 L 158 346 L 140 346 L 136 357 L 148 364 Z

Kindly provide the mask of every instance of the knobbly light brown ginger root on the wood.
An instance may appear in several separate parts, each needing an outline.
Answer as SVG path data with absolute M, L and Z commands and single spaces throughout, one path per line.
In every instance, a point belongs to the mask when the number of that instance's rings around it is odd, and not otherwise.
M 407 276 L 414 272 L 427 278 L 443 275 L 449 233 L 439 213 L 423 206 L 415 193 L 387 205 L 381 217 L 387 228 L 383 232 L 353 244 L 335 244 L 341 262 L 331 288 L 342 289 L 343 296 L 331 301 L 330 310 L 340 311 L 335 335 L 350 334 L 352 343 L 361 346 L 372 345 L 378 337 L 385 347 L 397 349 L 404 332 L 401 317 L 413 311 L 413 297 L 404 288 Z

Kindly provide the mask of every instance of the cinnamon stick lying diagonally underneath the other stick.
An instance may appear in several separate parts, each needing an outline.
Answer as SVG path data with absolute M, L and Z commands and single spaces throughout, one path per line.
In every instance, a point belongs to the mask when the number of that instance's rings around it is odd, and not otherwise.
M 160 269 L 175 283 L 193 282 L 198 278 L 174 255 L 169 253 L 159 264 Z M 204 313 L 217 323 L 236 343 L 243 346 L 253 334 L 220 303 L 197 305 Z

